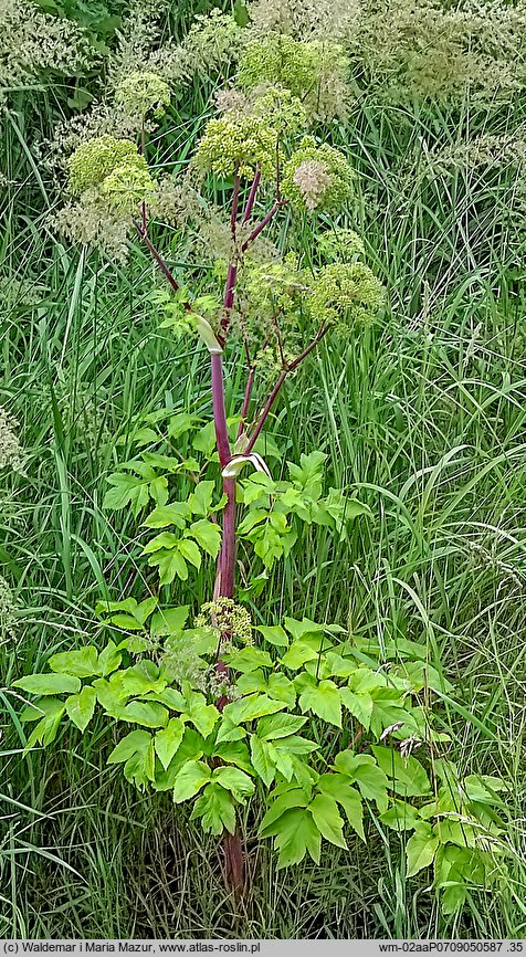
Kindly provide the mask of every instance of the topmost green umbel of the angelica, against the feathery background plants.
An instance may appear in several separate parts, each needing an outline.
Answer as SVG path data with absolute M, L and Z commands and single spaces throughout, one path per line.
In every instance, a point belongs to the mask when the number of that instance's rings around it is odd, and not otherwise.
M 296 96 L 303 96 L 316 83 L 318 69 L 319 52 L 315 43 L 272 31 L 246 45 L 239 62 L 238 83 L 244 90 L 261 83 L 278 83 Z

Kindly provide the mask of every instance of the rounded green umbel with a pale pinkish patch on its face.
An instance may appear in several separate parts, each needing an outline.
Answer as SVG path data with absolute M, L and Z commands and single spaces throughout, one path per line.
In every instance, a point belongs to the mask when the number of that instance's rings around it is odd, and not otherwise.
M 283 169 L 282 191 L 311 212 L 338 210 L 354 193 L 354 170 L 339 149 L 305 136 Z

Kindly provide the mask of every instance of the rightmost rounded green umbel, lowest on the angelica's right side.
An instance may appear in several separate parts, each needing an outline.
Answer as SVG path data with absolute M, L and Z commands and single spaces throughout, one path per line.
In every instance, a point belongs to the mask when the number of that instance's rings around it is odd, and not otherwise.
M 345 332 L 374 322 L 383 303 L 383 286 L 365 263 L 330 263 L 313 282 L 308 308 L 316 322 Z

